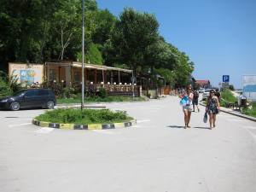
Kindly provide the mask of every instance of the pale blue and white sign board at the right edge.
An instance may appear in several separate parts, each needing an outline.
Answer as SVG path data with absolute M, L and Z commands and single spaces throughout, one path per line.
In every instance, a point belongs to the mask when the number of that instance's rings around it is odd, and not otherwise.
M 242 76 L 242 93 L 247 99 L 256 101 L 256 74 Z

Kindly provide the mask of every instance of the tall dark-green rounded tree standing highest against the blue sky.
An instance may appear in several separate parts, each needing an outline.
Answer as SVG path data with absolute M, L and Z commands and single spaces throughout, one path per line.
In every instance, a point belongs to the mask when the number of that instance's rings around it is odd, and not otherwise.
M 125 9 L 113 32 L 113 47 L 118 50 L 120 61 L 137 73 L 143 65 L 145 51 L 158 38 L 158 21 L 154 15 Z

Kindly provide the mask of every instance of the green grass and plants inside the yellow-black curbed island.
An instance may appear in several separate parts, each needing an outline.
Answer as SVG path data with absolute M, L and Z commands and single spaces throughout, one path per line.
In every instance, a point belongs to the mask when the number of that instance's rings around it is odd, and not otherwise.
M 129 121 L 132 118 L 125 111 L 113 112 L 109 109 L 55 109 L 40 114 L 35 119 L 52 123 L 63 124 L 104 124 L 104 123 L 120 123 Z

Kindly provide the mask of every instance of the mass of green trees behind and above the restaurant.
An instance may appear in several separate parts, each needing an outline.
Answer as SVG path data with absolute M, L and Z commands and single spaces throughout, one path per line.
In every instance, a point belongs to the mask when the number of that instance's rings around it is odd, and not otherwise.
M 189 56 L 160 36 L 154 15 L 125 8 L 119 17 L 85 0 L 85 61 L 133 69 L 137 76 L 158 73 L 185 85 L 194 70 Z M 81 0 L 2 0 L 0 63 L 44 63 L 82 58 Z

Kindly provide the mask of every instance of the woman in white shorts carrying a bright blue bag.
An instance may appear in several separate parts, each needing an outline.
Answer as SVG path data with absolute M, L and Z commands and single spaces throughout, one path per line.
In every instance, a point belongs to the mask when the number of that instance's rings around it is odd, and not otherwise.
M 187 87 L 187 90 L 179 96 L 182 98 L 182 105 L 183 105 L 183 113 L 184 113 L 184 122 L 185 126 L 184 128 L 190 128 L 189 122 L 190 122 L 190 117 L 191 117 L 191 112 L 193 110 L 192 107 L 192 101 L 193 101 L 193 92 L 191 89 L 191 86 Z

